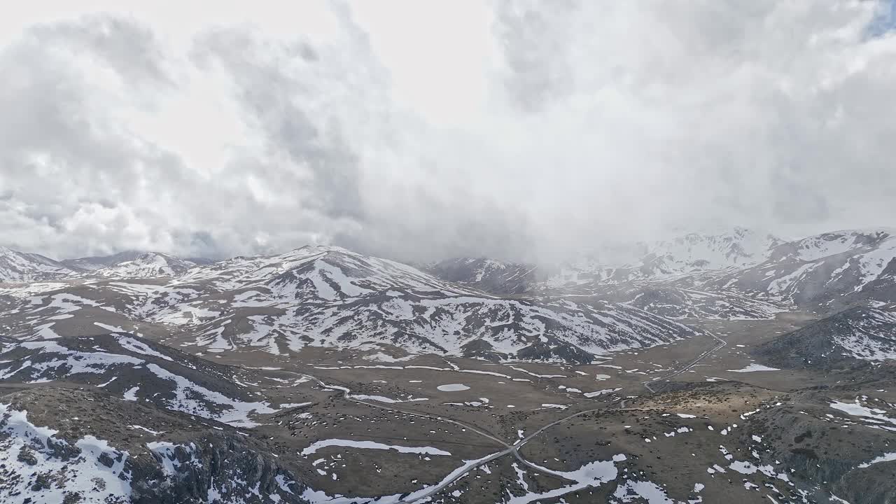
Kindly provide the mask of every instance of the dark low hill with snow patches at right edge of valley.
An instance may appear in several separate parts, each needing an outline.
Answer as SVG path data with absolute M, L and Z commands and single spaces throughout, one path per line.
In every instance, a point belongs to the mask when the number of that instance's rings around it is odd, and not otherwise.
M 765 343 L 756 352 L 782 367 L 851 366 L 896 360 L 896 312 L 856 307 Z

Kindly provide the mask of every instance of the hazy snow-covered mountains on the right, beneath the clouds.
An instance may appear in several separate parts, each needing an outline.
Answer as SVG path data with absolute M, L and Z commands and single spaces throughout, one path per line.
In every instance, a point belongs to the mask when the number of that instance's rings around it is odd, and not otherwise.
M 649 253 L 630 265 L 565 265 L 538 289 L 622 300 L 667 317 L 771 318 L 794 309 L 832 314 L 896 301 L 893 230 L 843 230 L 788 242 L 735 230 L 685 235 L 642 250 Z

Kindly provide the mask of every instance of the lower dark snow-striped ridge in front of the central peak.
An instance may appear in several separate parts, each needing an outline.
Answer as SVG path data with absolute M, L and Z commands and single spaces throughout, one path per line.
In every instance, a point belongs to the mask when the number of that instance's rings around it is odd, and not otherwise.
M 184 343 L 218 352 L 258 346 L 274 354 L 297 352 L 306 345 L 361 348 L 388 343 L 415 353 L 587 362 L 592 354 L 695 334 L 686 326 L 634 308 L 608 304 L 595 308 L 567 301 L 536 304 L 383 294 L 339 302 L 305 301 L 276 313 L 270 309 L 276 303 L 259 297 L 254 302 L 259 304 L 226 316 L 212 313 L 198 324 L 183 316 L 200 312 L 202 300 L 178 305 L 158 319 L 184 320 L 184 328 L 191 327 L 185 330 L 189 337 Z

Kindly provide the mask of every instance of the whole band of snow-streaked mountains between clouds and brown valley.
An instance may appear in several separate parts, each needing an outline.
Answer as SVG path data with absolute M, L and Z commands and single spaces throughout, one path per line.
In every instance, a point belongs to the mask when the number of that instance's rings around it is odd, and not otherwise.
M 208 265 L 144 253 L 102 259 L 119 262 L 86 272 L 8 251 L 15 264 L 30 265 L 29 278 L 47 273 L 55 281 L 0 290 L 0 329 L 17 339 L 136 331 L 198 352 L 387 344 L 491 360 L 588 361 L 694 334 L 670 319 L 770 319 L 896 300 L 889 230 L 781 243 L 738 229 L 639 247 L 648 253 L 633 265 L 554 275 L 556 268 L 470 258 L 425 272 L 338 247 Z

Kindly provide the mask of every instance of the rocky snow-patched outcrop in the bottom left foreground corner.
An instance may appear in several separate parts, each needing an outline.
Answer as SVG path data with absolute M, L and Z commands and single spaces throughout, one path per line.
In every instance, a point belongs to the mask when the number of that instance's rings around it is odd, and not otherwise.
M 270 447 L 226 425 L 85 391 L 0 396 L 0 496 L 299 504 L 304 491 Z

